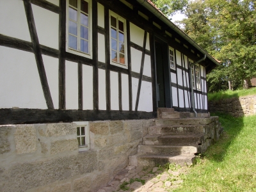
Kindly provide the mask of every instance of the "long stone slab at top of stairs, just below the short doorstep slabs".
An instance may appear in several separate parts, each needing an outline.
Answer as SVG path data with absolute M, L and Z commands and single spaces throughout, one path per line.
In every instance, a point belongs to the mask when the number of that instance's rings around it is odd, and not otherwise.
M 173 125 L 207 125 L 211 118 L 156 119 L 156 126 Z

